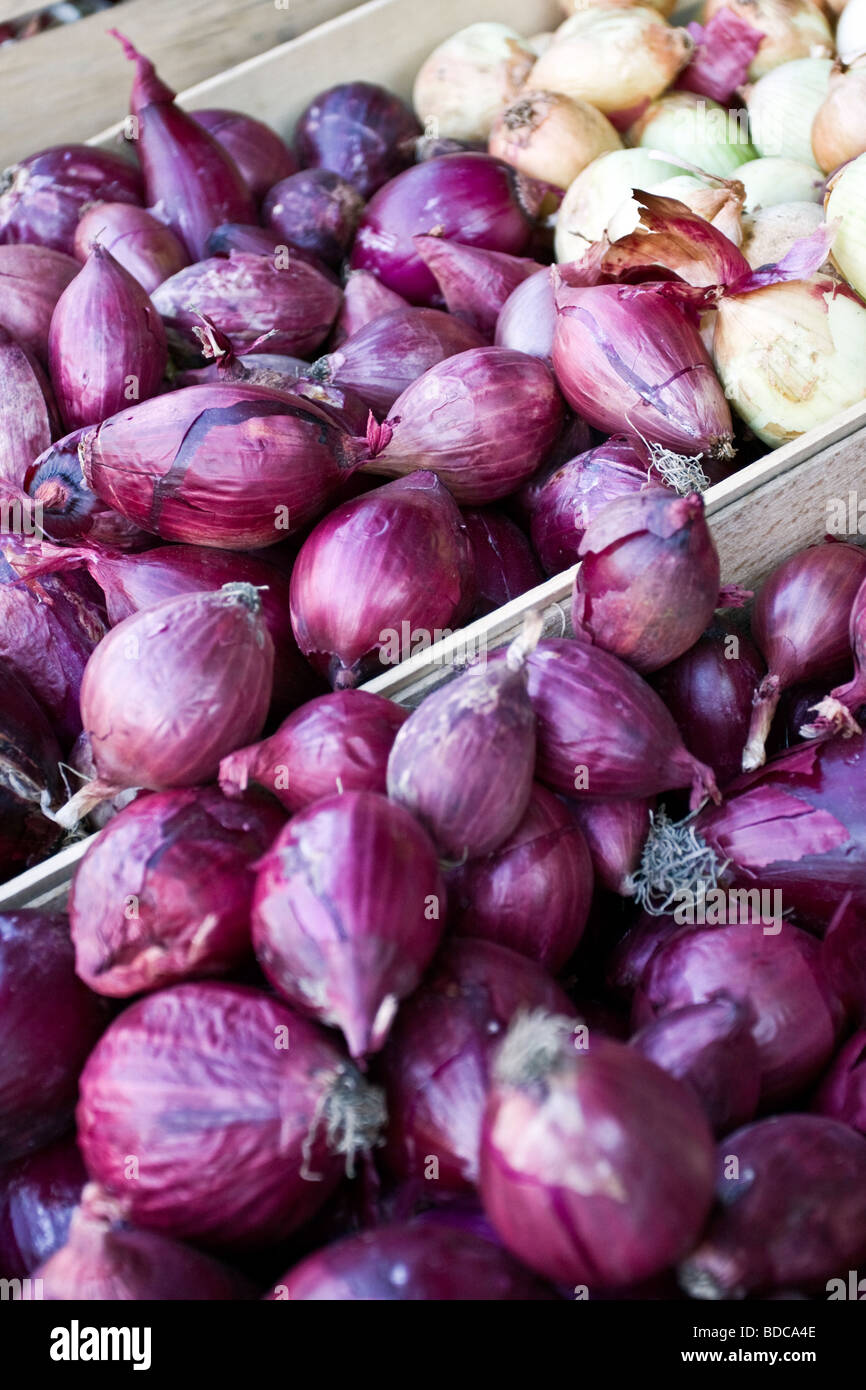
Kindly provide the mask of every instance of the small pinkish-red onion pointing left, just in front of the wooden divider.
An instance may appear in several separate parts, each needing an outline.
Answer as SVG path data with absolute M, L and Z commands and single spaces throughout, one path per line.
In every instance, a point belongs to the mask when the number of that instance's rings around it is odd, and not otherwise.
M 296 709 L 275 734 L 220 763 L 227 796 L 250 783 L 267 787 L 289 812 L 334 792 L 386 791 L 388 755 L 409 717 L 368 691 L 334 691 Z

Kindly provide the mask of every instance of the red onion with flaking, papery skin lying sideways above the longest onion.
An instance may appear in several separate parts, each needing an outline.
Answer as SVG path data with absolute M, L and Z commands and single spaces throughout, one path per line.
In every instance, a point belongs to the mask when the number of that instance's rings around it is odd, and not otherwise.
M 178 271 L 153 293 L 153 306 L 170 335 L 195 345 L 200 314 L 213 318 L 234 343 L 250 345 L 268 334 L 268 349 L 310 353 L 328 335 L 339 309 L 336 285 L 300 257 L 231 252 Z

